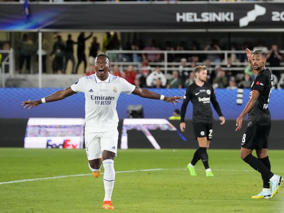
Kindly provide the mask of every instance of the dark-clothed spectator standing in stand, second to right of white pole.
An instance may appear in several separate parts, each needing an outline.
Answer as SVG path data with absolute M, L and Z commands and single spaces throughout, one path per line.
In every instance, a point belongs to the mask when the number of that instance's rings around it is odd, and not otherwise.
M 55 41 L 52 52 L 50 54 L 50 56 L 54 55 L 52 62 L 52 71 L 54 74 L 57 72 L 61 74 L 65 71 L 63 67 L 63 60 L 65 56 L 66 45 L 60 35 L 58 35 L 56 38 L 57 41 Z

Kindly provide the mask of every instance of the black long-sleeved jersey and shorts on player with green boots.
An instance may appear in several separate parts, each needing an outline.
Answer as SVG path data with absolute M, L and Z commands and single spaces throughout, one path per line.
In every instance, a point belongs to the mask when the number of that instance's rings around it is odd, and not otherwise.
M 204 137 L 206 133 L 207 139 L 211 140 L 212 124 L 214 120 L 211 102 L 217 114 L 223 116 L 213 86 L 204 82 L 202 87 L 198 86 L 196 83 L 187 87 L 183 97 L 181 122 L 184 122 L 186 108 L 190 100 L 193 105 L 192 122 L 195 136 Z M 205 130 L 202 127 L 205 127 Z

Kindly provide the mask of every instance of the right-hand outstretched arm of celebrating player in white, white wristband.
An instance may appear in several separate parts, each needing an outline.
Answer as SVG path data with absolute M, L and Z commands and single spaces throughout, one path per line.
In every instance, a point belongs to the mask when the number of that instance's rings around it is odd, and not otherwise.
M 140 87 L 135 87 L 134 91 L 132 92 L 134 95 L 140 96 L 140 97 L 146 97 L 146 98 L 151 98 L 151 99 L 161 99 L 165 100 L 166 102 L 172 102 L 174 105 L 176 105 L 175 102 L 180 103 L 179 99 L 182 99 L 181 96 L 173 96 L 173 97 L 166 97 L 157 93 L 153 93 L 150 90 L 140 88 Z

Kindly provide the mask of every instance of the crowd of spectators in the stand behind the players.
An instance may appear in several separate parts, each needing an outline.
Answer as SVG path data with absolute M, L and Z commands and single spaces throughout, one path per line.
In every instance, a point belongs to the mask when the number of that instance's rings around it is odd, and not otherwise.
M 86 40 L 92 40 L 91 45 L 85 47 Z M 278 45 L 273 44 L 267 47 L 263 40 L 258 41 L 258 44 L 252 45 L 247 42 L 237 44 L 231 43 L 230 50 L 244 50 L 249 48 L 251 50 L 261 48 L 267 52 L 266 58 L 270 67 L 281 67 L 282 55 L 278 50 Z M 77 48 L 75 49 L 75 45 Z M 74 47 L 73 47 L 74 46 Z M 51 48 L 52 47 L 52 48 Z M 48 49 L 52 49 L 48 52 Z M 23 34 L 22 40 L 17 48 L 17 55 L 20 55 L 19 69 L 20 72 L 25 64 L 26 73 L 29 72 L 31 66 L 31 57 L 37 55 L 38 43 L 28 38 L 27 34 Z M 81 33 L 78 40 L 73 40 L 72 35 L 68 35 L 67 40 L 63 40 L 60 35 L 55 38 L 54 43 L 50 46 L 48 41 L 42 39 L 42 72 L 46 73 L 46 58 L 53 58 L 52 73 L 78 73 L 78 67 L 81 63 L 84 65 L 85 75 L 94 73 L 93 63 L 97 54 L 108 50 L 222 50 L 218 39 L 212 39 L 205 44 L 203 48 L 197 41 L 192 41 L 191 46 L 188 47 L 185 41 L 180 41 L 177 46 L 173 45 L 172 41 L 166 41 L 164 44 L 158 44 L 155 39 L 150 43 L 144 44 L 140 39 L 135 42 L 125 42 L 119 39 L 117 33 L 106 33 L 102 43 L 99 43 L 96 36 L 92 33 L 85 35 Z M 74 55 L 77 53 L 77 56 Z M 243 54 L 229 54 L 227 61 L 224 61 L 221 54 L 171 54 L 167 55 L 168 71 L 164 75 L 163 65 L 155 65 L 155 63 L 164 62 L 163 54 L 156 53 L 109 53 L 108 56 L 113 64 L 111 73 L 116 76 L 125 78 L 128 82 L 140 87 L 153 88 L 186 88 L 194 82 L 194 67 L 196 65 L 206 65 L 208 71 L 208 82 L 213 84 L 215 88 L 250 88 L 252 80 L 254 79 L 251 67 L 247 62 L 246 55 Z M 75 58 L 77 62 L 75 61 Z M 67 71 L 68 61 L 72 62 L 72 70 Z M 24 63 L 25 62 L 25 63 Z M 124 62 L 123 65 L 116 62 Z M 128 65 L 127 62 L 133 63 Z M 232 65 L 232 63 L 243 62 L 246 65 Z M 220 63 L 220 65 L 218 65 Z M 77 64 L 77 66 L 76 66 Z M 151 65 L 152 64 L 152 65 Z M 153 65 L 154 64 L 154 65 Z M 172 65 L 175 64 L 175 65 Z M 225 64 L 225 65 L 224 65 Z M 241 67 L 240 71 L 233 71 L 231 68 Z M 243 69 L 242 69 L 243 67 Z M 274 88 L 281 77 L 281 71 L 273 71 Z

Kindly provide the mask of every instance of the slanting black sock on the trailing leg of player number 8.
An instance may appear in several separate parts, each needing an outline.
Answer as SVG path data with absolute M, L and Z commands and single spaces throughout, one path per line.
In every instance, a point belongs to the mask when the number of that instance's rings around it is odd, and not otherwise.
M 260 159 L 251 154 L 243 158 L 243 161 L 249 164 L 259 173 L 263 174 L 268 179 L 270 179 L 274 175 L 266 166 L 264 166 L 263 162 Z

